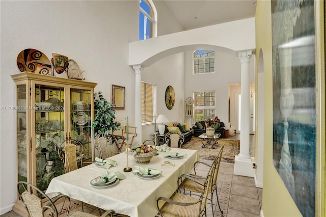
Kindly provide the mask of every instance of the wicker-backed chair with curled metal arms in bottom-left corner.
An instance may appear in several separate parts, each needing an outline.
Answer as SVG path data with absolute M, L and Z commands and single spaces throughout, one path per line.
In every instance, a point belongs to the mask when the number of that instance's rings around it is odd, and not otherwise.
M 18 187 L 18 194 L 19 199 L 23 202 L 26 210 L 29 213 L 29 216 L 31 217 L 44 217 L 44 216 L 51 216 L 51 217 L 57 217 L 59 216 L 59 212 L 57 210 L 57 207 L 55 205 L 56 201 L 51 200 L 46 194 L 44 194 L 38 187 L 34 186 L 31 183 L 20 181 L 17 184 Z M 46 202 L 42 202 L 42 199 L 40 197 L 44 198 Z M 68 196 L 63 196 L 69 199 Z M 69 200 L 70 201 L 70 200 Z M 69 203 L 70 208 L 70 203 Z M 68 213 L 69 214 L 69 208 Z M 114 211 L 107 210 L 105 211 L 101 217 L 107 216 L 110 214 L 113 216 Z M 86 212 L 80 212 L 75 211 L 71 213 L 69 216 L 71 217 L 96 217 L 96 215 L 86 213 Z

